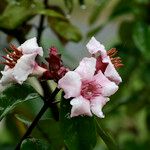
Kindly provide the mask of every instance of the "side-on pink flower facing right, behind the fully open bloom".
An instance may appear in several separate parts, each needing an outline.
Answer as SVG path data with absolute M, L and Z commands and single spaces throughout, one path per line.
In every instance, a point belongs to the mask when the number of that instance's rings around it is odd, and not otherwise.
M 121 67 L 123 64 L 121 63 L 120 57 L 113 58 L 117 53 L 115 48 L 106 51 L 104 45 L 98 42 L 94 37 L 91 38 L 86 47 L 92 55 L 96 56 L 97 53 L 100 54 L 96 62 L 97 72 L 101 70 L 109 80 L 115 82 L 117 85 L 122 82 L 116 68 Z

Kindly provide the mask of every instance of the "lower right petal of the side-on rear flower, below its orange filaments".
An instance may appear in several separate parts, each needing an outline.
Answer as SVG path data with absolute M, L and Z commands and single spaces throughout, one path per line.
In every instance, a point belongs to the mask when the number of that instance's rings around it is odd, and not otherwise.
M 120 77 L 120 75 L 118 74 L 117 70 L 115 69 L 114 65 L 112 64 L 109 56 L 107 58 L 105 58 L 103 60 L 104 63 L 108 63 L 107 67 L 106 67 L 106 70 L 104 72 L 105 76 L 115 82 L 117 85 L 122 82 L 122 79 Z

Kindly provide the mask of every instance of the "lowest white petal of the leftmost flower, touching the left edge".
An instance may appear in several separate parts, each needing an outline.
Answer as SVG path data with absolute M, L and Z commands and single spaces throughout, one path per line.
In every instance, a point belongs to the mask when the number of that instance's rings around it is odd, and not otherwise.
M 2 78 L 0 80 L 0 83 L 5 86 L 9 83 L 15 83 L 16 80 L 15 78 L 13 77 L 13 69 L 7 69 L 7 70 L 4 70 L 4 71 L 1 71 L 2 73 Z

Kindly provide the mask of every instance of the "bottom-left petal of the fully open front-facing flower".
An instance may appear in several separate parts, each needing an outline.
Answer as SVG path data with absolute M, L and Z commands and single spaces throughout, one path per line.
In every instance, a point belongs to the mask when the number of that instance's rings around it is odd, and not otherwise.
M 90 111 L 90 101 L 86 100 L 82 96 L 72 99 L 70 104 L 72 105 L 71 117 L 79 115 L 92 116 Z

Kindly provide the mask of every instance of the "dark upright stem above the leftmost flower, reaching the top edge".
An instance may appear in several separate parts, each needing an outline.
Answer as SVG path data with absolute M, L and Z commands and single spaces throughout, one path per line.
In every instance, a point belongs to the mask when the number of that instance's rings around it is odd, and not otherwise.
M 47 8 L 47 5 L 48 5 L 48 0 L 44 0 L 44 5 L 45 5 L 45 8 Z M 40 44 L 41 42 L 41 36 L 42 36 L 42 32 L 43 32 L 43 29 L 44 29 L 44 19 L 45 19 L 45 16 L 44 15 L 41 15 L 40 16 L 40 21 L 39 21 L 39 27 L 38 27 L 38 31 L 37 31 L 37 43 Z

